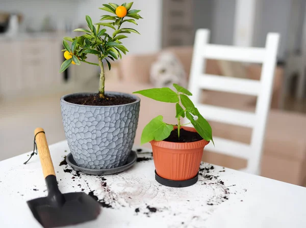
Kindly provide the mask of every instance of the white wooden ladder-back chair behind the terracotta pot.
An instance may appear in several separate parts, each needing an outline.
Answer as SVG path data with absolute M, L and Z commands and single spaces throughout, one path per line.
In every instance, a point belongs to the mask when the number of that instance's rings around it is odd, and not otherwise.
M 252 136 L 250 145 L 214 137 L 215 147 L 209 144 L 208 150 L 246 159 L 247 167 L 244 171 L 259 174 L 279 35 L 269 33 L 265 48 L 209 44 L 209 35 L 210 31 L 205 29 L 196 32 L 189 80 L 189 90 L 193 96 L 190 98 L 204 118 L 250 127 Z M 205 72 L 206 61 L 203 60 L 206 59 L 262 63 L 261 79 L 251 80 L 205 74 L 203 72 Z M 201 89 L 258 96 L 256 111 L 247 112 L 201 104 L 199 103 Z

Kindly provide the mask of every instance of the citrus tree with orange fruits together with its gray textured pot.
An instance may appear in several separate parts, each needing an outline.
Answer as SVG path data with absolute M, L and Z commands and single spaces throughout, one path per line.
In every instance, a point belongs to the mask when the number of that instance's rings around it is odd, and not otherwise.
M 101 10 L 110 15 L 101 16 L 101 22 L 93 24 L 86 16 L 87 29 L 79 37 L 65 37 L 64 56 L 60 72 L 71 64 L 96 65 L 100 68 L 98 93 L 69 94 L 61 98 L 64 130 L 73 159 L 84 168 L 114 168 L 124 165 L 135 138 L 139 116 L 140 99 L 135 95 L 106 92 L 104 62 L 111 69 L 111 61 L 121 59 L 128 50 L 122 40 L 124 34 L 138 33 L 128 24 L 142 18 L 132 10 L 133 3 L 104 4 Z M 106 28 L 112 29 L 108 33 Z M 69 45 L 68 42 L 71 42 Z M 86 61 L 93 54 L 98 63 Z

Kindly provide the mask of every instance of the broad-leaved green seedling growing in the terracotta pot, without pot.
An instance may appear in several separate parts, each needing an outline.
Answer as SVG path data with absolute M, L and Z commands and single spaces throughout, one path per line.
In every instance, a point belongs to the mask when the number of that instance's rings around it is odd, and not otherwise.
M 177 126 L 177 137 L 180 138 L 180 129 L 182 126 L 192 124 L 198 134 L 207 141 L 213 141 L 212 128 L 206 119 L 202 117 L 198 109 L 194 106 L 188 96 L 192 94 L 178 84 L 173 84 L 176 92 L 170 88 L 148 89 L 134 92 L 145 97 L 168 103 L 175 103 L 177 124 L 167 124 L 163 122 L 163 116 L 152 119 L 143 129 L 141 134 L 141 144 L 148 143 L 151 140 L 161 141 L 166 139 L 174 126 Z M 182 107 L 183 105 L 183 107 Z M 190 120 L 189 123 L 181 124 L 181 118 Z

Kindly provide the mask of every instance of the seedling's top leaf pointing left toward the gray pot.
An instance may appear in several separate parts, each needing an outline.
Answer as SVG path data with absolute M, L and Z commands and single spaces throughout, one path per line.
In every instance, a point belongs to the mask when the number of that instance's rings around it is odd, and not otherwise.
M 177 94 L 171 90 L 170 88 L 156 88 L 156 89 L 148 89 L 148 90 L 140 90 L 136 91 L 133 94 L 141 94 L 145 97 L 162 101 L 168 103 L 176 103 L 179 102 L 179 97 Z

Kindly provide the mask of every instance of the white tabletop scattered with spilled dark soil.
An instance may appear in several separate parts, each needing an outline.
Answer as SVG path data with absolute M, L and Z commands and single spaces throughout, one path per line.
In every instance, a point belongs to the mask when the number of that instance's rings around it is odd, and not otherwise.
M 200 172 L 195 185 L 170 188 L 155 181 L 152 160 L 118 175 L 78 177 L 59 165 L 69 153 L 66 141 L 49 148 L 63 193 L 94 191 L 111 205 L 97 220 L 74 227 L 306 227 L 304 187 L 202 163 L 209 171 Z M 23 164 L 29 154 L 0 162 L 0 227 L 41 227 L 26 202 L 47 192 L 39 157 Z

